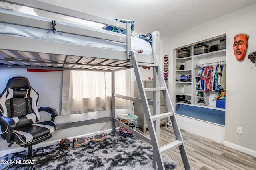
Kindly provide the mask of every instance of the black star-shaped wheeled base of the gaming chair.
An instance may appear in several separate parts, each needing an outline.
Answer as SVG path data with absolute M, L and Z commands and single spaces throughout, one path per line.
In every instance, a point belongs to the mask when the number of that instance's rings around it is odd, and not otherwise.
M 39 150 L 42 150 L 42 153 L 37 154 L 37 152 Z M 28 154 L 14 154 L 14 155 L 12 155 L 11 159 L 13 160 L 14 163 L 7 166 L 3 170 L 7 170 L 7 169 L 12 168 L 13 166 L 15 166 L 17 164 L 24 164 L 24 163 L 30 165 L 31 170 L 35 170 L 34 161 L 32 160 L 32 158 L 35 158 L 35 157 L 38 157 L 38 156 L 46 156 L 46 155 L 49 155 L 49 154 L 55 154 L 56 158 L 58 159 L 58 154 L 56 152 L 44 152 L 44 147 L 39 147 L 34 152 L 32 152 L 32 146 L 30 146 L 30 147 L 28 147 Z M 20 160 L 15 160 L 15 157 L 24 157 L 24 158 L 22 158 Z M 26 161 L 28 159 L 29 159 L 29 161 Z

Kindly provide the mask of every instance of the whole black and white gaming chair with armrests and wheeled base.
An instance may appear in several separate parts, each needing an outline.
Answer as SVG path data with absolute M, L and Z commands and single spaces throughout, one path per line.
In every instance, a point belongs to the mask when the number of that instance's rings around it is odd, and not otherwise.
M 58 154 L 55 152 L 44 152 L 43 147 L 32 152 L 32 145 L 52 137 L 52 133 L 56 131 L 54 118 L 58 115 L 55 109 L 49 107 L 38 109 L 38 99 L 38 92 L 31 87 L 30 82 L 25 77 L 10 78 L 6 88 L 0 94 L 1 137 L 6 139 L 10 145 L 16 143 L 21 147 L 28 148 L 27 155 L 14 154 L 12 160 L 14 157 L 22 157 L 21 162 L 27 159 L 32 161 L 33 157 L 48 154 L 54 154 L 58 158 Z M 40 122 L 40 111 L 50 113 L 51 121 Z M 42 150 L 42 153 L 37 153 L 39 150 Z M 13 166 L 15 164 L 11 164 L 5 169 Z M 31 169 L 34 168 L 34 164 L 31 164 Z

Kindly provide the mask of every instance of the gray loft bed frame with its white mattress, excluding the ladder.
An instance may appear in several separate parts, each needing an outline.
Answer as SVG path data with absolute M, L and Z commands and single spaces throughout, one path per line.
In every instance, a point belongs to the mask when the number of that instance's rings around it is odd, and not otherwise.
M 152 33 L 152 45 L 144 39 L 131 36 L 130 23 L 122 23 L 36 0 L 3 0 L 53 14 L 92 21 L 126 29 L 126 34 L 95 29 L 78 23 L 56 20 L 58 32 L 46 33 L 53 27 L 51 18 L 23 14 L 0 8 L 0 68 L 32 68 L 43 70 L 84 70 L 114 72 L 133 68 L 132 53 L 139 63 L 154 64 L 159 56 L 159 33 Z M 140 49 L 143 53 L 138 53 Z M 112 83 L 113 84 L 113 83 Z M 127 98 L 114 94 L 114 97 Z M 112 108 L 115 108 L 112 106 Z M 68 127 L 111 121 L 112 116 L 69 123 Z M 67 124 L 57 125 L 64 129 Z M 115 125 L 113 125 L 115 127 Z

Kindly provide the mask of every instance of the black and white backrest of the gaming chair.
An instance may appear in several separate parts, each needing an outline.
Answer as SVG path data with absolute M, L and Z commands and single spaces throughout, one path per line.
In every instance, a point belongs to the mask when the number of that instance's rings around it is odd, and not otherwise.
M 38 112 L 39 94 L 25 77 L 12 77 L 0 94 L 0 114 L 12 118 L 16 128 L 40 121 Z M 1 125 L 2 131 L 4 127 Z

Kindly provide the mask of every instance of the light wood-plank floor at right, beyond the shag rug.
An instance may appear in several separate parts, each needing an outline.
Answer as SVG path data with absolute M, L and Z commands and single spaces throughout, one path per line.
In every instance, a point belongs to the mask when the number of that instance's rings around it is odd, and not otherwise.
M 142 133 L 141 128 L 137 128 L 137 131 Z M 181 130 L 181 133 L 192 170 L 256 170 L 256 158 L 253 156 L 188 131 Z M 145 134 L 149 137 L 148 130 Z M 172 126 L 162 126 L 160 147 L 174 140 Z M 177 164 L 175 170 L 184 170 L 178 148 L 166 152 L 164 156 Z

